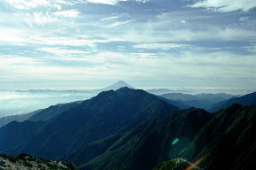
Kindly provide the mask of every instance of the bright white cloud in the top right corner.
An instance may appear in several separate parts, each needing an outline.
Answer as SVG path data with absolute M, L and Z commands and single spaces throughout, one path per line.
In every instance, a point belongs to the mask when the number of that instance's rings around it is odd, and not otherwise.
M 243 10 L 248 12 L 252 8 L 256 7 L 255 0 L 200 0 L 195 4 L 189 5 L 189 7 L 204 7 L 212 8 L 218 12 L 234 12 L 237 10 Z

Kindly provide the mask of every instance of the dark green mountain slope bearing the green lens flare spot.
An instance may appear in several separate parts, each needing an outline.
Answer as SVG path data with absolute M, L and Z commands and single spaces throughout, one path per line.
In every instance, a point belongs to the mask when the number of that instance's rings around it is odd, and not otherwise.
M 158 116 L 118 138 L 106 151 L 81 167 L 86 170 L 152 169 L 163 160 L 178 157 L 211 116 L 201 109 Z

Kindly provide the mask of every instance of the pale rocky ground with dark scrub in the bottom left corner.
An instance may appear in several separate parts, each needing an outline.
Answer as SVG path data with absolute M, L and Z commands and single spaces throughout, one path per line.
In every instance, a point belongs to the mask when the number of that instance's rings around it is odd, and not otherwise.
M 18 157 L 12 157 L 0 154 L 0 169 L 58 169 L 58 170 L 76 170 L 76 166 L 69 162 L 60 160 L 46 160 L 44 158 L 35 158 L 27 154 L 20 154 Z

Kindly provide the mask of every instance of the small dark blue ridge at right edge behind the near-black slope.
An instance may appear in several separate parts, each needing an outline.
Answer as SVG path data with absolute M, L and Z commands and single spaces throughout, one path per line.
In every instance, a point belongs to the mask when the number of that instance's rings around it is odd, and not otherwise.
M 244 95 L 242 97 L 232 97 L 220 103 L 213 104 L 211 110 L 218 111 L 231 104 L 241 104 L 241 105 L 256 104 L 256 92 Z

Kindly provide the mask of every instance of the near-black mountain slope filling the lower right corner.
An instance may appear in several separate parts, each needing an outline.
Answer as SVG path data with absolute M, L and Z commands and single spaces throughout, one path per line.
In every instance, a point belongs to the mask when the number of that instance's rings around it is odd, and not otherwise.
M 205 169 L 251 169 L 256 161 L 256 105 L 233 104 L 216 112 L 185 155 L 203 158 Z

